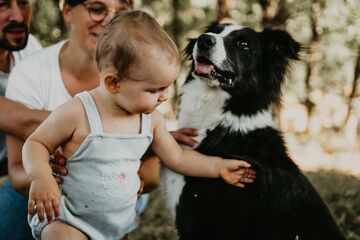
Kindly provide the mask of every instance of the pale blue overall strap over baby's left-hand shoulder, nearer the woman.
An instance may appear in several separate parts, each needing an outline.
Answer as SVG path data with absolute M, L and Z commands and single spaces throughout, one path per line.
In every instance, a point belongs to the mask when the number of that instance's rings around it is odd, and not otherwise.
M 101 118 L 99 111 L 96 107 L 96 103 L 91 96 L 91 94 L 87 91 L 76 94 L 76 97 L 80 98 L 82 101 L 86 116 L 88 118 L 90 132 L 91 133 L 103 133 L 103 128 L 101 125 Z

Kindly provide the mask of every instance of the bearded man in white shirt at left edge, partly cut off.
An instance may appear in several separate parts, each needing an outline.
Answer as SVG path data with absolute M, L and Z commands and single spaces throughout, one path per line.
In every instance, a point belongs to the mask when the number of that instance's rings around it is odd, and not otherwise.
M 30 18 L 29 0 L 0 0 L 0 176 L 7 170 L 5 133 L 26 138 L 47 115 L 39 111 L 38 116 L 35 114 L 36 117 L 28 119 L 24 113 L 29 109 L 3 97 L 13 66 L 26 55 L 41 49 L 29 34 Z

